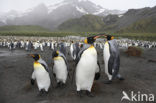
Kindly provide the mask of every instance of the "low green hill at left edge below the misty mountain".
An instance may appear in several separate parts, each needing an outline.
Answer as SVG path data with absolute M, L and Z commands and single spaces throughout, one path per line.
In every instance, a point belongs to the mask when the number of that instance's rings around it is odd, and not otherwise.
M 32 25 L 10 25 L 10 26 L 1 26 L 0 32 L 34 32 L 34 31 L 49 31 L 46 28 L 41 26 L 32 26 Z

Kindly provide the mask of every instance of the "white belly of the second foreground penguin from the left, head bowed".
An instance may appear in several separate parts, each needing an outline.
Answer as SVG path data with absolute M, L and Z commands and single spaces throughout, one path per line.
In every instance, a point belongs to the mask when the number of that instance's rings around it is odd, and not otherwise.
M 66 83 L 67 79 L 67 65 L 62 57 L 54 58 L 54 69 L 53 72 L 56 74 L 57 82 L 61 81 Z

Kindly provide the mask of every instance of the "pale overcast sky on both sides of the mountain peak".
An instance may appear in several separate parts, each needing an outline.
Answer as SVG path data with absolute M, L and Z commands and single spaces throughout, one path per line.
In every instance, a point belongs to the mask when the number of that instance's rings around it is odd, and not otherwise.
M 60 0 L 0 0 L 0 12 L 9 10 L 24 11 L 40 3 L 51 5 Z M 130 8 L 153 7 L 156 0 L 90 0 L 106 9 L 127 10 Z

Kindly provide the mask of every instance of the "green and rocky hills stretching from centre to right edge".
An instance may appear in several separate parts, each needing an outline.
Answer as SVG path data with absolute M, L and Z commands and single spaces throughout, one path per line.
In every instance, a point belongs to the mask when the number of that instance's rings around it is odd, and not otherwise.
M 58 26 L 62 31 L 109 31 L 156 33 L 156 7 L 130 9 L 125 14 L 99 17 L 85 15 Z

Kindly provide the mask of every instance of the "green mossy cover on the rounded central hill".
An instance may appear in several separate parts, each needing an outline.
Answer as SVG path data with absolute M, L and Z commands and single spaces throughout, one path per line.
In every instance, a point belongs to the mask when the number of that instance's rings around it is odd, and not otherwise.
M 101 31 L 104 27 L 103 18 L 95 15 L 84 15 L 81 18 L 70 19 L 61 24 L 61 31 Z

